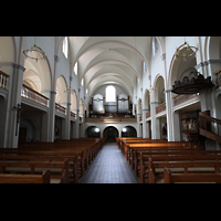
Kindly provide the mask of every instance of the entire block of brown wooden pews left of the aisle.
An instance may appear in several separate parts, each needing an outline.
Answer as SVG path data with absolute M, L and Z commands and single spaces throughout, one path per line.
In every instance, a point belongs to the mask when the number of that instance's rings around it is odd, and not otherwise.
M 0 148 L 0 183 L 78 183 L 104 143 L 75 138 Z

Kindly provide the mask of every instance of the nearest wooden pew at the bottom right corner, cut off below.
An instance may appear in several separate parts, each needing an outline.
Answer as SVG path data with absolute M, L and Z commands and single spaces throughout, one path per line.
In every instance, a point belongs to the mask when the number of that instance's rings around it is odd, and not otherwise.
M 168 168 L 164 170 L 165 183 L 175 182 L 217 182 L 221 183 L 221 173 L 171 173 Z

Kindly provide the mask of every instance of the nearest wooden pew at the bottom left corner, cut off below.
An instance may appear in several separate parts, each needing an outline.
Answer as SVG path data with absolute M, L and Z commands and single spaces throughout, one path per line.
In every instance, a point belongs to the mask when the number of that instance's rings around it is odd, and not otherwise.
M 44 170 L 42 175 L 2 175 L 0 183 L 50 183 L 51 171 Z

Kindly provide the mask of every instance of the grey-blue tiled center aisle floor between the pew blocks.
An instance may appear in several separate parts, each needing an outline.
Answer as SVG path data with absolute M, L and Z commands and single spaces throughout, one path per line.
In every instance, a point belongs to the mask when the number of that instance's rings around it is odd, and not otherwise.
M 81 183 L 138 183 L 116 144 L 106 144 Z

